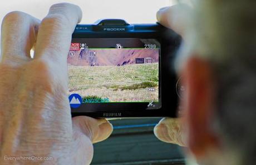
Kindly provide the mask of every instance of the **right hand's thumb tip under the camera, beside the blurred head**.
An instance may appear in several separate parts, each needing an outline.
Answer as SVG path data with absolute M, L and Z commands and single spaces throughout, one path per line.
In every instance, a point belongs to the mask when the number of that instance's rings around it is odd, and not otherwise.
M 180 118 L 163 118 L 154 128 L 154 133 L 159 140 L 185 146 L 183 128 Z

